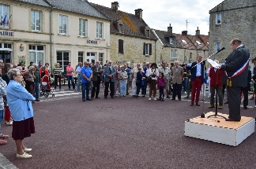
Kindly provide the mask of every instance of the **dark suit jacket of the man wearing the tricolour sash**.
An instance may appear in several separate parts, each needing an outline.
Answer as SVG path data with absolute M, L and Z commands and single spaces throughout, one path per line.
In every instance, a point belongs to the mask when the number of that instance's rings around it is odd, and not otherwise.
M 247 50 L 245 46 L 241 46 L 228 55 L 225 64 L 221 65 L 221 69 L 227 72 L 228 77 L 231 77 L 243 64 L 247 62 L 249 57 L 249 50 Z M 232 86 L 247 86 L 247 75 L 248 64 L 240 75 L 232 78 Z M 228 77 L 226 75 L 222 75 L 222 82 L 224 84 L 227 84 Z

